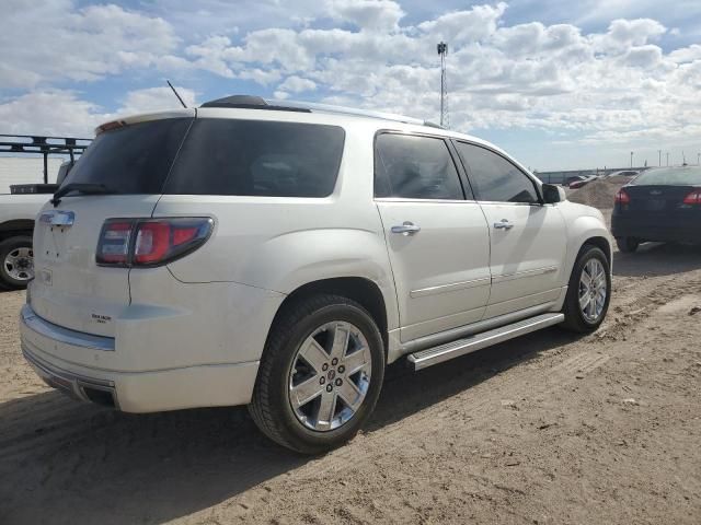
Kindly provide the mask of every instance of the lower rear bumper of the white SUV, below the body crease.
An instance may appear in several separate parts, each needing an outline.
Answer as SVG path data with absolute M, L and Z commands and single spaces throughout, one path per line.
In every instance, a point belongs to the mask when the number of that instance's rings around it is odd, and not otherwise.
M 66 361 L 48 351 L 69 346 L 104 352 L 110 338 L 95 341 L 95 336 L 57 327 L 37 317 L 30 305 L 22 308 L 20 329 L 23 354 L 47 384 L 71 397 L 125 412 L 246 405 L 258 369 L 258 361 L 251 361 L 148 372 L 104 370 Z

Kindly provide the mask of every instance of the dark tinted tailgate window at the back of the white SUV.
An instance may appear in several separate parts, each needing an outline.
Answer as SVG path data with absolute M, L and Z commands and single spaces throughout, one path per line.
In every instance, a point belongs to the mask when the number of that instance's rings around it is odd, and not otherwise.
M 160 194 L 192 121 L 168 118 L 100 133 L 64 184 L 104 184 L 116 194 Z

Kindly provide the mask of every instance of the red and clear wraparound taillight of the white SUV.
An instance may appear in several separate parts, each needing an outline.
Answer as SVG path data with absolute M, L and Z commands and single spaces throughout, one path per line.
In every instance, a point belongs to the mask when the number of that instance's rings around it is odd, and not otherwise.
M 209 237 L 207 218 L 108 219 L 102 226 L 99 266 L 152 267 L 194 252 Z

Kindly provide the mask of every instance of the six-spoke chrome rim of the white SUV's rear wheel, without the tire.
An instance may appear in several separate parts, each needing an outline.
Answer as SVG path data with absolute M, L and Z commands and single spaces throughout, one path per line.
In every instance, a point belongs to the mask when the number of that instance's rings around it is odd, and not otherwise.
M 372 357 L 350 323 L 317 328 L 297 349 L 289 373 L 295 416 L 315 431 L 337 429 L 358 411 L 370 386 Z

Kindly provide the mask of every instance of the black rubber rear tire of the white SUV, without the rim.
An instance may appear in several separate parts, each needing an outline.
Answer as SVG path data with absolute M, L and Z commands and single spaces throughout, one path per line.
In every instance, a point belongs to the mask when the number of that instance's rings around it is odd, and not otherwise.
M 320 326 L 347 322 L 368 342 L 371 357 L 370 384 L 353 418 L 334 430 L 304 427 L 289 399 L 289 373 L 299 346 Z M 384 345 L 368 312 L 355 301 L 338 295 L 315 295 L 288 305 L 271 329 L 249 411 L 257 427 L 276 443 L 302 454 L 319 454 L 350 440 L 377 404 L 384 376 Z

